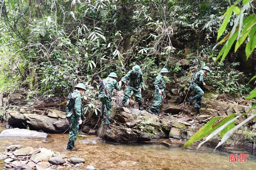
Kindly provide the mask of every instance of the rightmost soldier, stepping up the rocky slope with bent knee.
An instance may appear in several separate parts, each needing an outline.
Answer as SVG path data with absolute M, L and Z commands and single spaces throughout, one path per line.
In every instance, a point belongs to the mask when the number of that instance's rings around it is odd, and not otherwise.
M 192 105 L 193 101 L 196 99 L 195 108 L 200 109 L 199 103 L 201 102 L 202 98 L 204 97 L 204 91 L 199 87 L 200 85 L 205 85 L 204 82 L 204 74 L 210 71 L 208 66 L 204 66 L 195 73 L 194 79 L 190 81 L 190 88 L 196 92 L 194 97 L 189 98 L 189 104 Z

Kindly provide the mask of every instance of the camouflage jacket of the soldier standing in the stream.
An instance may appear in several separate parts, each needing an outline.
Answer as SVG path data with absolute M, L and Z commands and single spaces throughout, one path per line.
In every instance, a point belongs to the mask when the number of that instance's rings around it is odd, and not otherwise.
M 73 93 L 71 93 L 71 96 L 74 98 L 75 100 L 75 112 L 76 112 L 76 117 L 78 120 L 81 120 L 81 114 L 82 114 L 82 101 L 81 101 L 81 94 L 78 91 L 73 91 Z M 68 97 L 70 97 L 68 95 Z M 67 100 L 67 104 L 66 104 L 66 117 L 71 117 L 74 113 L 73 113 L 73 109 L 70 109 L 70 111 L 67 109 L 68 105 L 70 104 L 70 100 Z

